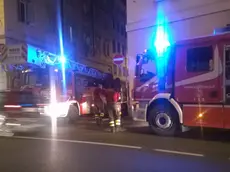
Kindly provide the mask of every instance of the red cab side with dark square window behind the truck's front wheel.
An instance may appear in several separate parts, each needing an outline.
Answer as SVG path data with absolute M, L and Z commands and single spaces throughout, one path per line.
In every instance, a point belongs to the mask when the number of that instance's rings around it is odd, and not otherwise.
M 206 42 L 177 50 L 175 98 L 183 104 L 184 125 L 223 128 L 219 54 L 218 46 Z

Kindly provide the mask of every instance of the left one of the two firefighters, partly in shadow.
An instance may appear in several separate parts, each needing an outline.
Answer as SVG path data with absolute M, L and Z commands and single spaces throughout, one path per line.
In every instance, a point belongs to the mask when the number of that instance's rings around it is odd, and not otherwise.
M 99 84 L 94 91 L 95 119 L 98 125 L 101 124 L 101 119 L 104 117 L 105 100 L 105 92 L 102 85 Z

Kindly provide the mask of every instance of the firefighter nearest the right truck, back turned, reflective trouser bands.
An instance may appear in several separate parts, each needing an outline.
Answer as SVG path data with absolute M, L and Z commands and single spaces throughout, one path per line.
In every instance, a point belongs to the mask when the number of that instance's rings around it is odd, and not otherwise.
M 106 94 L 107 111 L 109 114 L 109 126 L 111 132 L 121 130 L 121 115 L 120 115 L 120 92 L 116 88 L 108 89 Z

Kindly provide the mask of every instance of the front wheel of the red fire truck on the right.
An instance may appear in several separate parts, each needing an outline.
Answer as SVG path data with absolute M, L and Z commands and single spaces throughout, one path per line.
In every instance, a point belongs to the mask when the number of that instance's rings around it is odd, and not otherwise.
M 174 136 L 179 127 L 179 117 L 169 103 L 156 104 L 149 111 L 150 129 L 160 136 Z

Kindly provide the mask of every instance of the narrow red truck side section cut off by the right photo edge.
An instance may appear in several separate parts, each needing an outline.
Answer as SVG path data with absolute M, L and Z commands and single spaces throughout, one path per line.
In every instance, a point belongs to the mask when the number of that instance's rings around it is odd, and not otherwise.
M 224 48 L 223 60 L 224 128 L 230 129 L 230 45 Z

